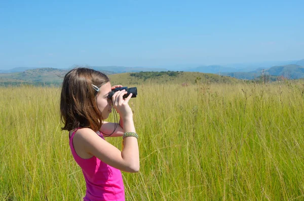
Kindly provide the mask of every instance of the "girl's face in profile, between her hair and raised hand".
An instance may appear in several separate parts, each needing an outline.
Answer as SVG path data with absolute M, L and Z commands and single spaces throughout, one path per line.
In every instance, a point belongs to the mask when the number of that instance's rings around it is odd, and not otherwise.
M 107 98 L 109 92 L 111 92 L 110 82 L 102 85 L 99 89 L 100 90 L 97 94 L 97 106 L 101 111 L 102 118 L 106 119 L 112 112 L 112 101 Z

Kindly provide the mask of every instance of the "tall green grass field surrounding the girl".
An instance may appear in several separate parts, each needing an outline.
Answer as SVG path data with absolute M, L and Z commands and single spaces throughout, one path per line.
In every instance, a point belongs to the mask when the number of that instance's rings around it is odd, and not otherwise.
M 302 83 L 137 88 L 140 172 L 123 173 L 126 200 L 304 199 Z M 59 98 L 59 88 L 0 88 L 0 200 L 84 196 Z

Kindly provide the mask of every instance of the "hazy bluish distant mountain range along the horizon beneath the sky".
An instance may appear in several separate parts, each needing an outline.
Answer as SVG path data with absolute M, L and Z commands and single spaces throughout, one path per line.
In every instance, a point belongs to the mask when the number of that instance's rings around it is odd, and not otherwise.
M 238 66 L 224 67 L 220 65 L 198 66 L 193 68 L 179 68 L 179 71 L 214 73 L 224 76 L 231 76 L 238 79 L 255 79 L 264 75 L 284 76 L 290 79 L 304 78 L 304 59 L 292 61 L 293 64 L 276 65 L 270 68 L 255 68 L 251 71 L 242 71 L 243 68 Z M 145 67 L 125 67 L 125 66 L 90 66 L 91 68 L 101 71 L 107 75 L 140 72 L 140 71 L 168 71 L 167 68 L 145 68 Z M 247 68 L 249 70 L 250 68 Z M 0 83 L 61 83 L 63 76 L 69 69 L 58 68 L 28 68 L 17 67 L 10 70 L 0 70 Z M 177 70 L 177 69 L 176 69 Z M 175 71 L 176 71 L 175 70 Z

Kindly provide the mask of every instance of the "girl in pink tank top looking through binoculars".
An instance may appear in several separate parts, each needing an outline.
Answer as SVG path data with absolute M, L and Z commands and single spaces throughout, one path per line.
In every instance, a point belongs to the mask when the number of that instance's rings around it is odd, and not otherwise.
M 118 91 L 109 100 L 109 92 L 117 87 L 122 86 L 111 87 L 105 74 L 89 68 L 72 69 L 63 79 L 62 130 L 69 131 L 72 155 L 86 180 L 84 200 L 125 200 L 121 171 L 139 171 L 138 136 L 128 105 L 132 94 L 124 99 L 127 92 Z M 112 107 L 120 114 L 119 125 L 104 122 Z M 122 151 L 104 140 L 110 133 L 123 136 Z

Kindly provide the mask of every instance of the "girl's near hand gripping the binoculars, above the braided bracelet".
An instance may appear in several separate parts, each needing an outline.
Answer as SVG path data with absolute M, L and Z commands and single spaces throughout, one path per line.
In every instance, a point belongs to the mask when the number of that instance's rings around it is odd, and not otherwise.
M 115 92 L 112 96 L 113 107 L 117 110 L 123 120 L 133 117 L 132 109 L 128 104 L 132 94 L 124 99 L 123 96 L 125 94 L 128 94 L 128 92 L 126 92 L 126 90 L 122 90 Z

